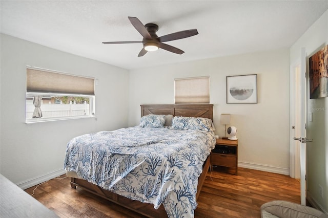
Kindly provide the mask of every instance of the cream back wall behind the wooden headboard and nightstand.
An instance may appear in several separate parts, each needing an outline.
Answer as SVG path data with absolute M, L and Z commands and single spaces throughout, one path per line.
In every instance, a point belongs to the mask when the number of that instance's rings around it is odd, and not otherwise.
M 227 104 L 226 76 L 247 74 L 258 75 L 258 103 Z M 224 135 L 220 114 L 232 114 L 231 125 L 238 128 L 238 165 L 289 175 L 289 50 L 132 70 L 129 126 L 139 123 L 140 104 L 174 103 L 174 78 L 197 76 L 210 76 L 216 134 Z

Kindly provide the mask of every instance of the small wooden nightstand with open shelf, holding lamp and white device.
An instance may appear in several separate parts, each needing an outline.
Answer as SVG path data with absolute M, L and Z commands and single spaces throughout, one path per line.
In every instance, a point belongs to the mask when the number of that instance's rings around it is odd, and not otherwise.
M 215 148 L 211 151 L 211 168 L 213 165 L 235 168 L 238 173 L 238 140 L 216 139 Z

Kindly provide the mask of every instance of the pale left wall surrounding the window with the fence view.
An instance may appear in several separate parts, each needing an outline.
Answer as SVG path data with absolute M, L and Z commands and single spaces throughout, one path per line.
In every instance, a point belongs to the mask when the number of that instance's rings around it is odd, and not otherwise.
M 27 65 L 97 78 L 96 119 L 25 124 Z M 22 188 L 38 184 L 64 173 L 66 145 L 73 137 L 127 127 L 128 80 L 127 70 L 2 34 L 2 175 Z

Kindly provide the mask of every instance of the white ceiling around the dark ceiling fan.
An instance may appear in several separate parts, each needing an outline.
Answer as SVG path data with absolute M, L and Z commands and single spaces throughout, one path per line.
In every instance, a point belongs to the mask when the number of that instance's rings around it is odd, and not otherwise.
M 289 48 L 327 9 L 328 1 L 4 1 L 1 32 L 125 69 Z M 142 44 L 128 16 L 159 26 L 158 36 L 197 29 L 137 57 Z

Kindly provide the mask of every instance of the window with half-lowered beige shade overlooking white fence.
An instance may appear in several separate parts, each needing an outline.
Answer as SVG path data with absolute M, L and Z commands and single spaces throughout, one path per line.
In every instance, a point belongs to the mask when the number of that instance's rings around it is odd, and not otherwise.
M 27 123 L 93 117 L 94 105 L 94 78 L 27 68 Z

